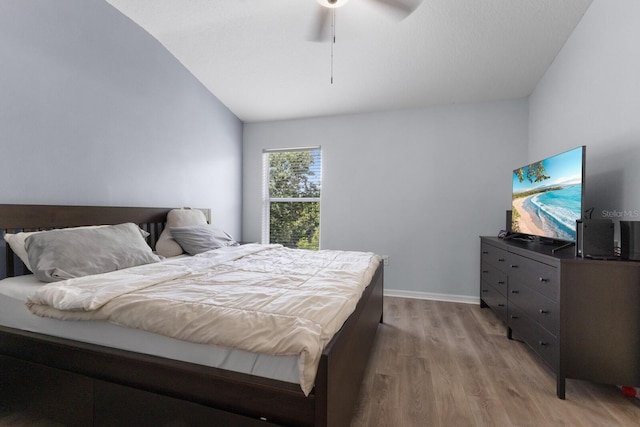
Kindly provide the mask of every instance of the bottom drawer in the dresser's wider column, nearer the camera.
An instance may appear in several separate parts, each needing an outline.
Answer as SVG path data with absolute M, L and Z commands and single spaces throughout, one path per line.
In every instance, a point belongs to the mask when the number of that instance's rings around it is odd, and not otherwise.
M 508 325 L 512 334 L 521 338 L 531 349 L 558 372 L 560 365 L 558 339 L 540 327 L 516 305 L 509 305 Z

